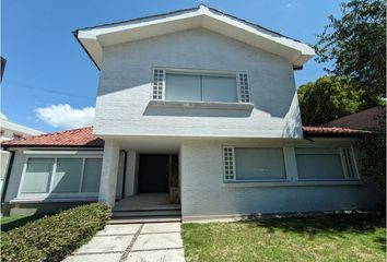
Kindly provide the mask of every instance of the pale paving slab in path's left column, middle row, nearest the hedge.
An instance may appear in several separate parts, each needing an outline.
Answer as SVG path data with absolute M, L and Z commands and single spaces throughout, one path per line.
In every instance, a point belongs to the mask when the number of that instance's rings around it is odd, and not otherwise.
M 101 236 L 94 237 L 75 253 L 124 252 L 133 236 Z

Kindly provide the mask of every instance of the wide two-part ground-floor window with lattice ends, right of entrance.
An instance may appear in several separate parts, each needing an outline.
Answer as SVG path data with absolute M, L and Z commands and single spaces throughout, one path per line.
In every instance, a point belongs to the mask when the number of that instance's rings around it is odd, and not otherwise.
M 286 160 L 283 152 L 282 147 L 223 146 L 223 179 L 226 182 L 283 181 L 288 179 L 285 163 L 293 181 L 359 178 L 350 146 L 289 147 Z

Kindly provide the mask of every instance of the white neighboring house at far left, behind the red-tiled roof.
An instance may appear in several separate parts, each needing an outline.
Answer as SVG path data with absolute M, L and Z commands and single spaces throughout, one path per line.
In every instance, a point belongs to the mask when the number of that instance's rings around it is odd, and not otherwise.
M 36 134 L 43 134 L 43 132 L 8 121 L 7 119 L 0 119 L 0 144 L 7 140 L 27 138 Z M 2 189 L 9 160 L 10 153 L 1 148 L 0 191 Z

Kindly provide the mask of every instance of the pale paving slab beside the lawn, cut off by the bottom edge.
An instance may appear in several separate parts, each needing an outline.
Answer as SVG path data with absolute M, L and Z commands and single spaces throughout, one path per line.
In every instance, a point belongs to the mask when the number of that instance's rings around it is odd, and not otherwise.
M 185 262 L 183 249 L 131 252 L 126 262 Z

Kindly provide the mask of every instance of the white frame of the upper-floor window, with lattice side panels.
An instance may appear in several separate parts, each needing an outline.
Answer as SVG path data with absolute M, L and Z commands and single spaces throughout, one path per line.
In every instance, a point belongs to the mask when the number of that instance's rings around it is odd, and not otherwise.
M 163 71 L 163 87 L 162 87 L 162 98 L 154 98 L 153 97 L 153 92 L 154 92 L 154 72 L 155 70 L 162 70 Z M 242 71 L 219 71 L 219 70 L 202 70 L 202 69 L 179 69 L 179 68 L 162 68 L 162 67 L 155 67 L 152 69 L 152 88 L 151 88 L 151 100 L 165 100 L 165 93 L 166 93 L 166 75 L 168 73 L 175 73 L 175 74 L 191 74 L 191 75 L 198 75 L 198 76 L 203 76 L 203 75 L 209 75 L 209 76 L 230 76 L 230 78 L 235 78 L 235 84 L 236 84 L 236 93 L 237 93 L 237 102 L 226 102 L 226 103 L 232 103 L 232 104 L 250 104 L 251 102 L 251 88 L 250 88 L 250 82 L 247 72 L 242 72 Z M 246 75 L 247 76 L 247 91 L 248 91 L 248 100 L 243 102 L 242 100 L 242 90 L 241 90 L 241 75 Z M 192 100 L 192 103 L 225 103 L 225 102 L 203 102 L 203 100 Z

